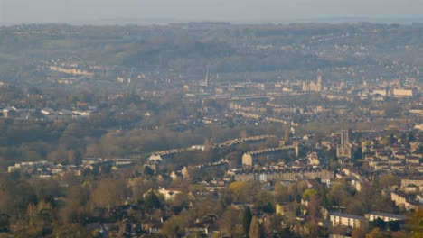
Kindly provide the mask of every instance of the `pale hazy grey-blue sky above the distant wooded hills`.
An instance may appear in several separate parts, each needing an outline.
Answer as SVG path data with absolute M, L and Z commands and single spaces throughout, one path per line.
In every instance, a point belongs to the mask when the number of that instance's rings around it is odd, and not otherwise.
M 140 18 L 283 20 L 423 18 L 423 0 L 0 0 L 2 23 Z

